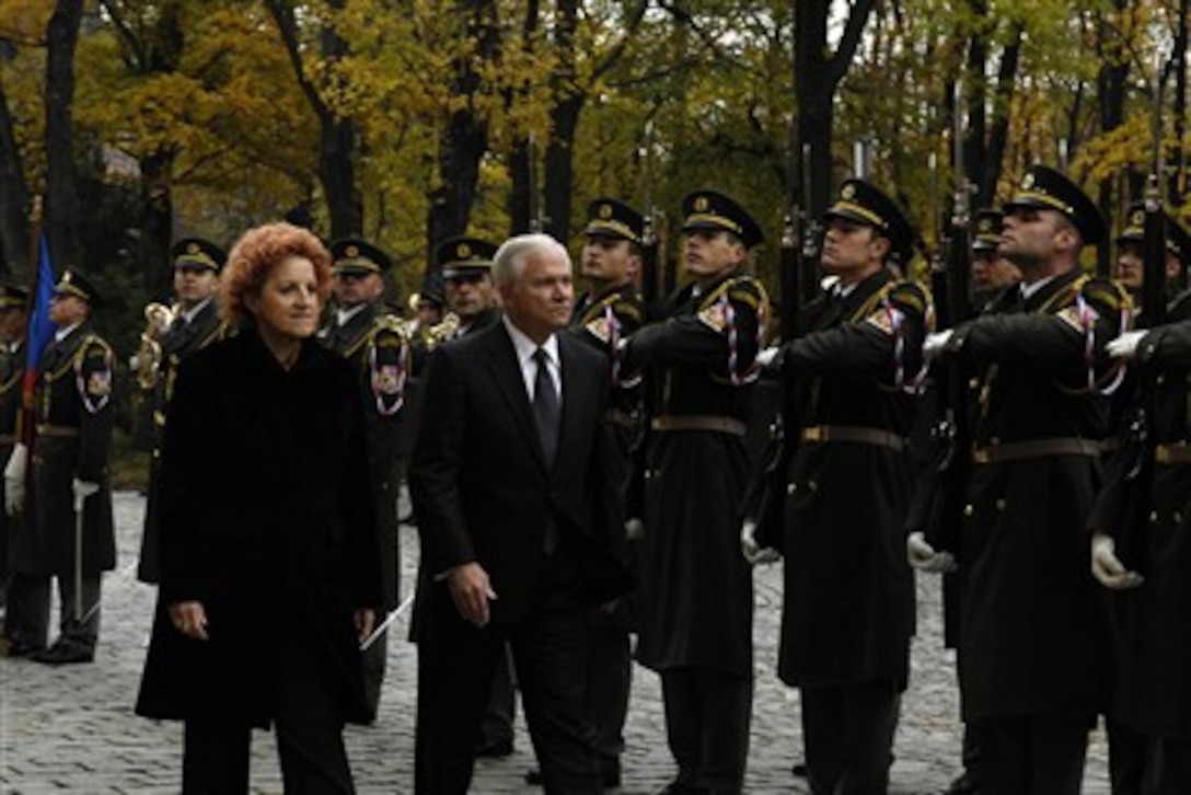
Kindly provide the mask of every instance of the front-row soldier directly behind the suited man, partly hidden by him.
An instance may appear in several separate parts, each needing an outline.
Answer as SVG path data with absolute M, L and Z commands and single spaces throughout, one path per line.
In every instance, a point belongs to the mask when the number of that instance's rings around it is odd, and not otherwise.
M 637 290 L 641 272 L 644 218 L 629 205 L 611 198 L 587 205 L 584 250 L 579 269 L 588 291 L 575 302 L 570 331 L 604 352 L 612 368 L 607 422 L 617 440 L 621 480 L 628 478 L 630 447 L 641 433 L 641 377 L 622 372 L 621 340 L 636 331 L 644 319 L 644 302 Z M 587 665 L 587 709 L 596 729 L 596 751 L 605 787 L 621 785 L 624 752 L 624 720 L 629 712 L 632 657 L 629 650 L 630 615 L 624 600 L 611 609 L 593 611 L 591 658 Z M 541 783 L 530 771 L 529 783 Z

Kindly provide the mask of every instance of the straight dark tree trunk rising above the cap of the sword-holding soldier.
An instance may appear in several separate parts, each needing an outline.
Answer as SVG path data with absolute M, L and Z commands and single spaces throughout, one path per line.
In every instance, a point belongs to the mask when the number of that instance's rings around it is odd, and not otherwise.
M 45 66 L 45 229 L 58 271 L 77 263 L 74 173 L 74 54 L 83 0 L 57 0 L 46 27 Z

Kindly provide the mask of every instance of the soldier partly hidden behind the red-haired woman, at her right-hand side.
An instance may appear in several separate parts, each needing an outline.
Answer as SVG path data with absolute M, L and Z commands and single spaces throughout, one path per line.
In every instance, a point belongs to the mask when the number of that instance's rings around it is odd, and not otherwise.
M 405 381 L 410 348 L 399 318 L 384 311 L 384 273 L 393 267 L 388 255 L 368 241 L 348 237 L 331 243 L 335 260 L 335 318 L 323 342 L 351 362 L 364 402 L 369 470 L 376 529 L 381 546 L 381 585 L 385 609 L 397 607 L 400 594 L 400 552 L 397 502 L 401 487 L 400 436 L 404 430 Z M 375 715 L 385 681 L 385 632 L 364 652 L 364 695 Z

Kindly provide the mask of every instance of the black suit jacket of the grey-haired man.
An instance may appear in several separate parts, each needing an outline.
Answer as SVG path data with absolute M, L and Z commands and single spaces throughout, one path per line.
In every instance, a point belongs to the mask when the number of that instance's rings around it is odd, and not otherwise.
M 445 592 L 438 574 L 478 561 L 498 595 L 493 622 L 518 621 L 548 565 L 542 548 L 550 520 L 593 602 L 629 589 L 615 546 L 623 534 L 615 447 L 604 423 L 607 362 L 567 335 L 557 339 L 562 430 L 553 466 L 543 458 L 503 323 L 453 341 L 431 359 L 410 471 L 422 538 L 419 603 Z

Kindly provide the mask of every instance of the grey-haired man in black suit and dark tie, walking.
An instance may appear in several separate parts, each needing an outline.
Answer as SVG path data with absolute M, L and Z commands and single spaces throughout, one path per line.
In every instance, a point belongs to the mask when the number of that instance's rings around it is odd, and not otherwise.
M 505 645 L 547 793 L 603 791 L 586 719 L 592 604 L 628 588 L 601 422 L 606 359 L 570 319 L 566 249 L 497 251 L 501 322 L 431 359 L 410 486 L 422 540 L 416 791 L 464 793 Z

